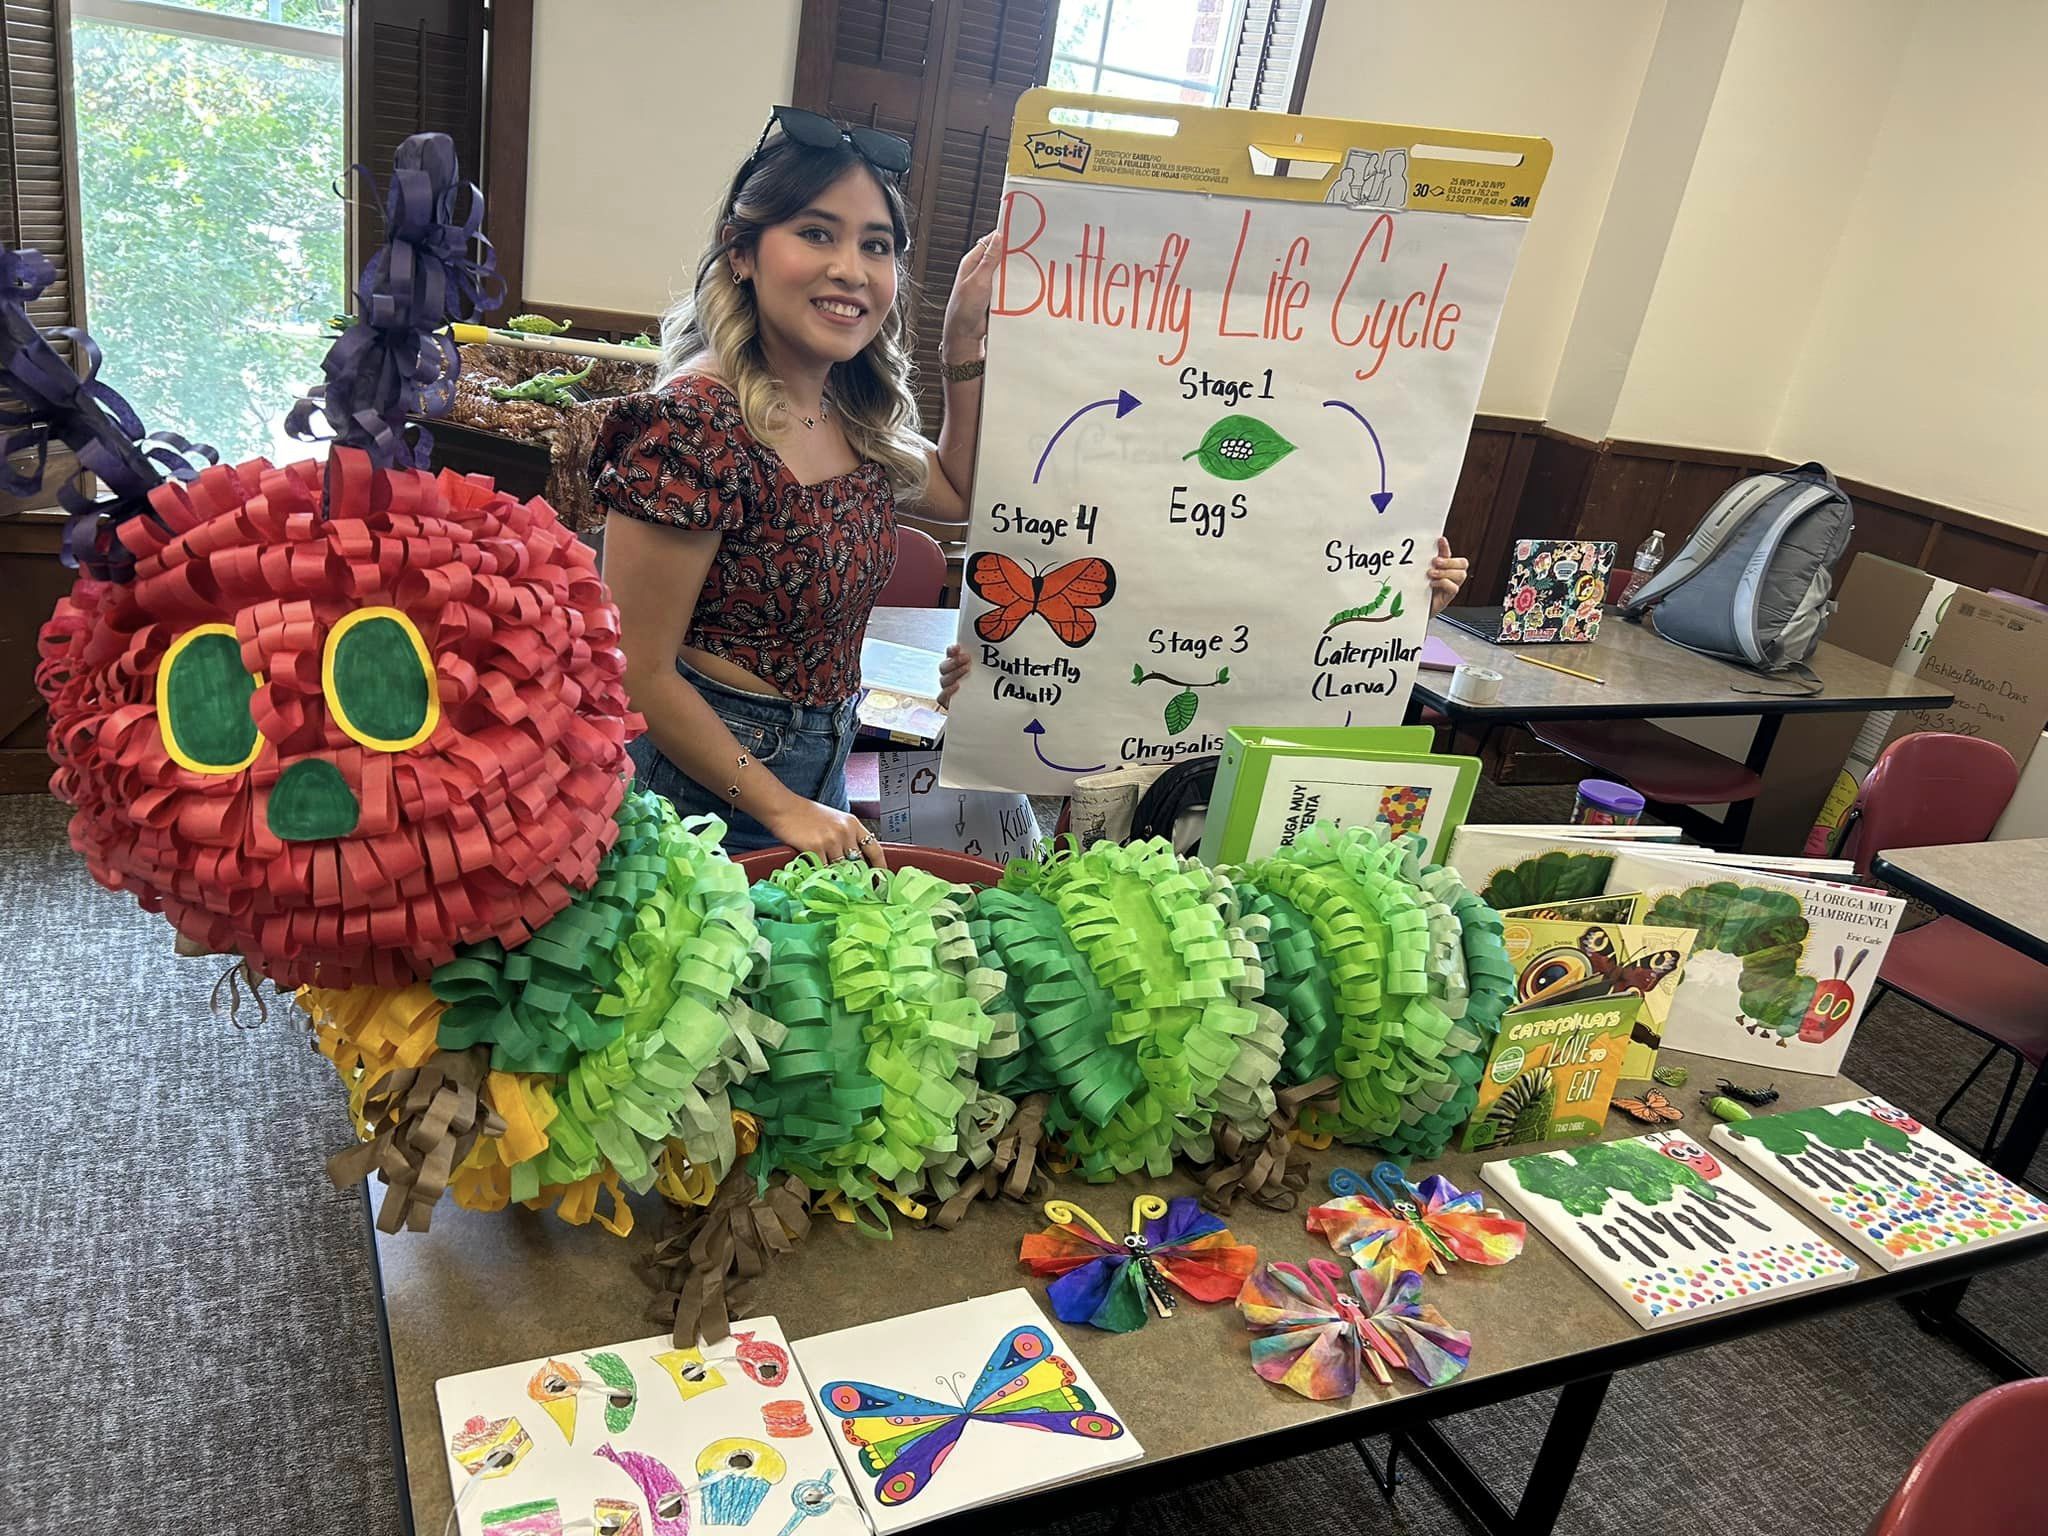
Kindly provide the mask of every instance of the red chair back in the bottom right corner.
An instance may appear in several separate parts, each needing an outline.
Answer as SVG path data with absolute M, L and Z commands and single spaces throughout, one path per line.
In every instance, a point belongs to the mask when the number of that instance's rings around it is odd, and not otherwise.
M 2048 1530 L 2048 1376 L 1993 1386 L 1913 1458 L 1870 1536 L 2017 1536 Z

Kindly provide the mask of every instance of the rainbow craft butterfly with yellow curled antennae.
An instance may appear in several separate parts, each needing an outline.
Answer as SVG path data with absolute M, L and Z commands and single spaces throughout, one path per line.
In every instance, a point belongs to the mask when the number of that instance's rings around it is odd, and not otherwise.
M 1196 1300 L 1231 1300 L 1260 1262 L 1255 1247 L 1190 1196 L 1169 1204 L 1141 1194 L 1120 1241 L 1067 1200 L 1047 1200 L 1044 1217 L 1053 1225 L 1026 1237 L 1018 1260 L 1032 1274 L 1059 1276 L 1047 1296 L 1061 1323 L 1130 1333 L 1145 1327 L 1145 1303 L 1171 1317 L 1176 1288 Z

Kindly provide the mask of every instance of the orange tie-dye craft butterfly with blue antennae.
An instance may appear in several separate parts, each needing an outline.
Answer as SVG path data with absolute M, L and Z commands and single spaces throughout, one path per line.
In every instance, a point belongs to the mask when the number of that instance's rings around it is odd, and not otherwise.
M 1444 1274 L 1444 1260 L 1507 1264 L 1528 1239 L 1524 1223 L 1487 1210 L 1479 1190 L 1460 1192 L 1442 1174 L 1417 1188 L 1395 1163 L 1380 1163 L 1368 1186 L 1339 1167 L 1329 1176 L 1329 1192 L 1337 1198 L 1309 1212 L 1309 1231 L 1382 1282 L 1401 1270 Z

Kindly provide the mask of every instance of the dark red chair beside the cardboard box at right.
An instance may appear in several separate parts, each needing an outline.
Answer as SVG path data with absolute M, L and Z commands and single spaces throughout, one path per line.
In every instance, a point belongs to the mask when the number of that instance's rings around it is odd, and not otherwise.
M 1841 852 L 1855 860 L 1858 872 L 1870 874 L 1870 860 L 1892 848 L 1982 842 L 2017 784 L 2019 768 L 1997 741 L 1944 731 L 1903 735 L 1884 748 L 1864 780 Z M 2040 1069 L 2048 1061 L 2048 1014 L 2042 1010 L 2048 965 L 2030 961 L 1958 918 L 1935 918 L 1892 938 L 1870 995 L 1872 1006 L 1886 991 L 1903 993 L 1991 1040 L 1985 1059 L 1933 1118 L 1937 1126 L 1946 1128 L 1948 1116 L 1985 1067 L 2001 1051 L 2011 1053 L 2013 1069 L 2005 1077 L 2005 1094 L 1982 1145 L 1989 1157 L 2013 1104 L 2019 1065 Z

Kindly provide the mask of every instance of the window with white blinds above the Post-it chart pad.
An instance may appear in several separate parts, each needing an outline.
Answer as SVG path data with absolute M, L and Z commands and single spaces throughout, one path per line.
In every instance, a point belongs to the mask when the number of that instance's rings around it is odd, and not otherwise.
M 1047 84 L 1300 111 L 1321 0 L 1061 0 Z

